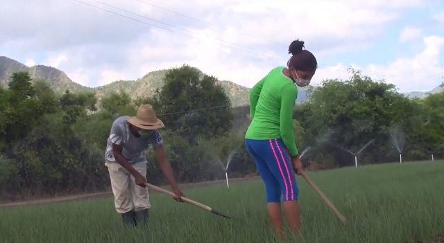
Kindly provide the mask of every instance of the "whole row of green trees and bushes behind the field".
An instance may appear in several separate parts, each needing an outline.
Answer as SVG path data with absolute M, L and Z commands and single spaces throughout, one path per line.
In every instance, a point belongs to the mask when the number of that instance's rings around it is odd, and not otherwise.
M 374 143 L 359 154 L 359 164 L 398 161 L 395 136 L 405 142 L 404 160 L 443 157 L 444 92 L 409 99 L 392 84 L 349 71 L 349 80 L 324 80 L 311 89 L 311 100 L 293 112 L 300 152 L 311 147 L 303 157 L 310 169 L 354 165 L 346 150 L 357 153 L 370 140 Z M 257 173 L 244 143 L 249 107 L 232 109 L 219 81 L 198 69 L 170 69 L 154 96 L 131 100 L 123 91 L 110 93 L 99 110 L 95 93 L 67 90 L 59 96 L 28 73 L 11 78 L 8 87 L 0 87 L 2 199 L 108 186 L 103 150 L 112 121 L 134 116 L 142 103 L 153 105 L 166 125 L 164 147 L 178 181 L 223 179 L 221 163 L 230 155 L 230 177 Z M 153 150 L 147 159 L 148 180 L 166 183 Z

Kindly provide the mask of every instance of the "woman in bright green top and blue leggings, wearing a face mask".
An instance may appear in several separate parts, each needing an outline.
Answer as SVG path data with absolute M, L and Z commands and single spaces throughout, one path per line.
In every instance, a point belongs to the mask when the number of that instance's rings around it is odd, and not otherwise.
M 248 153 L 253 156 L 265 184 L 268 217 L 281 240 L 284 240 L 282 192 L 289 226 L 296 235 L 300 232 L 299 189 L 293 171 L 299 174 L 302 163 L 293 132 L 293 107 L 298 87 L 307 86 L 318 68 L 316 57 L 304 49 L 304 42 L 293 41 L 289 53 L 292 55 L 287 67 L 272 69 L 251 89 L 252 122 L 245 136 Z

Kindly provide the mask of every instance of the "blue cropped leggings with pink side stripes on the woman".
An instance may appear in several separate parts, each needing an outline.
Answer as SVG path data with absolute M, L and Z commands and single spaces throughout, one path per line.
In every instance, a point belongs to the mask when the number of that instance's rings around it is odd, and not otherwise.
M 245 139 L 245 145 L 264 181 L 266 202 L 280 202 L 282 193 L 284 201 L 297 201 L 299 188 L 282 139 Z

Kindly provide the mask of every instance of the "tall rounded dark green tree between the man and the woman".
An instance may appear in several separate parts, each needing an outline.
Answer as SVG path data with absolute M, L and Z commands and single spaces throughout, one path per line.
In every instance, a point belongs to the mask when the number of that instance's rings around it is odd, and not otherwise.
M 232 127 L 231 103 L 218 80 L 183 65 L 167 71 L 164 87 L 153 98 L 166 127 L 196 141 L 227 134 Z M 159 114 L 160 113 L 160 114 Z

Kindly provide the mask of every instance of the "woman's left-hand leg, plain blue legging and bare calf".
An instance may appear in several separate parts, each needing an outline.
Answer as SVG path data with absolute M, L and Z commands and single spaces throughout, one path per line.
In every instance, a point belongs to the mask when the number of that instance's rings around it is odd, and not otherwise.
M 255 160 L 257 170 L 259 171 L 262 181 L 264 181 L 266 190 L 266 210 L 273 229 L 280 240 L 284 240 L 284 223 L 282 220 L 282 211 L 280 208 L 281 189 L 279 182 L 274 178 L 271 171 L 266 165 L 266 161 L 259 156 L 257 151 L 264 149 L 264 144 L 268 145 L 268 141 L 246 139 L 246 148 L 248 153 Z M 267 147 L 265 147 L 267 149 Z M 268 147 L 269 149 L 269 147 Z

